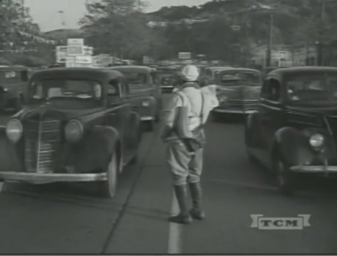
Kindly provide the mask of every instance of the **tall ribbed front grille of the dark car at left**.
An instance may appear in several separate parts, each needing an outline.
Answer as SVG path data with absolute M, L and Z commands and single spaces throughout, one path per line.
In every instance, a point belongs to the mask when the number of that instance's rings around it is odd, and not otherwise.
M 60 121 L 26 121 L 25 167 L 27 172 L 53 172 L 53 155 L 60 141 Z

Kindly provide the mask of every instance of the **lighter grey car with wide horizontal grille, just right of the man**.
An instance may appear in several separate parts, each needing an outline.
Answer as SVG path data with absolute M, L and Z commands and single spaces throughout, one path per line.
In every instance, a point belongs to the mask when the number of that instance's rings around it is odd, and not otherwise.
M 227 68 L 216 74 L 219 107 L 216 120 L 224 114 L 250 114 L 257 109 L 262 86 L 261 72 L 249 68 Z

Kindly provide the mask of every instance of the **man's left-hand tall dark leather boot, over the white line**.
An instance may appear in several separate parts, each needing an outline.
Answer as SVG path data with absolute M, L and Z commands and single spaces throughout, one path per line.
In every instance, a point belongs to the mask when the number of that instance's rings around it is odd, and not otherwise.
M 187 186 L 174 186 L 175 197 L 178 201 L 180 207 L 180 213 L 176 216 L 171 216 L 168 218 L 169 222 L 179 223 L 179 224 L 190 224 L 192 218 L 187 209 Z

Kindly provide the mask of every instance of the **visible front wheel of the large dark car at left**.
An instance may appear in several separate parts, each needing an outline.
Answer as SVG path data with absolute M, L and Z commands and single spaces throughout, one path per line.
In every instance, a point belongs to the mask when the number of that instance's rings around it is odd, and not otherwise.
M 113 198 L 117 189 L 118 178 L 118 160 L 116 153 L 113 153 L 107 167 L 107 180 L 103 183 L 103 195 L 108 198 Z

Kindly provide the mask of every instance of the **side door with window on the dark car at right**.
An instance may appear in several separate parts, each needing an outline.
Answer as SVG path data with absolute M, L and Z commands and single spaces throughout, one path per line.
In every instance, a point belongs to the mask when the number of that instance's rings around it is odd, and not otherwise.
M 270 77 L 265 79 L 259 106 L 261 133 L 261 148 L 267 154 L 272 150 L 274 137 L 284 123 L 284 108 L 282 106 L 281 83 Z

